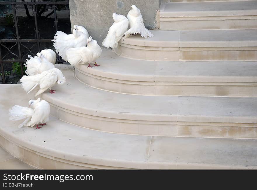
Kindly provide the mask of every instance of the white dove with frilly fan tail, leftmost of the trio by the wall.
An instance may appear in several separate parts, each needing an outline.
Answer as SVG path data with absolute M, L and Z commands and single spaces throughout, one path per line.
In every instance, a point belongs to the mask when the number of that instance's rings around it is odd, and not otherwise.
M 53 46 L 56 52 L 62 57 L 63 60 L 67 61 L 66 51 L 71 47 L 82 47 L 86 46 L 87 35 L 83 32 L 78 32 L 77 29 L 73 29 L 73 34 L 65 34 L 64 32 L 57 31 L 53 37 Z

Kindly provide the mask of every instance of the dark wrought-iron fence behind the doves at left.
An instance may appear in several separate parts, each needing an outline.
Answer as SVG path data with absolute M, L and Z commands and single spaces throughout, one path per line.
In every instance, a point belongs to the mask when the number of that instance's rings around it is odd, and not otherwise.
M 13 10 L 13 27 L 15 28 L 15 38 L 14 39 L 0 39 L 0 65 L 1 65 L 1 73 L 2 73 L 2 83 L 6 83 L 6 76 L 5 76 L 5 71 L 4 71 L 4 64 L 11 64 L 13 62 L 17 62 L 20 63 L 20 68 L 21 68 L 21 75 L 24 74 L 23 71 L 23 64 L 25 59 L 27 58 L 27 56 L 29 54 L 35 55 L 35 53 L 33 53 L 31 51 L 32 48 L 37 48 L 37 52 L 40 52 L 42 49 L 51 49 L 52 47 L 45 47 L 44 45 L 42 45 L 42 42 L 52 42 L 53 38 L 48 38 L 48 39 L 44 39 L 40 37 L 40 31 L 38 28 L 38 16 L 39 13 L 37 12 L 37 5 L 44 5 L 44 7 L 46 5 L 51 5 L 53 8 L 53 18 L 54 18 L 54 23 L 53 23 L 53 27 L 55 28 L 55 32 L 58 30 L 58 18 L 57 18 L 57 5 L 68 5 L 69 2 L 68 1 L 56 1 L 56 0 L 51 0 L 51 1 L 36 1 L 36 0 L 31 0 L 31 2 L 25 2 L 24 0 L 22 0 L 22 2 L 18 2 L 16 0 L 11 0 L 11 1 L 0 1 L 0 6 L 2 5 L 11 5 L 12 6 L 12 10 Z M 18 17 L 16 14 L 16 7 L 17 5 L 24 5 L 25 9 L 26 9 L 26 13 L 28 11 L 28 9 L 26 8 L 27 6 L 32 6 L 32 11 L 33 11 L 33 17 L 34 17 L 34 21 L 35 21 L 35 28 L 34 28 L 34 32 L 35 32 L 35 38 L 34 39 L 21 39 L 20 38 L 20 33 L 19 33 L 19 23 L 18 23 Z M 54 35 L 54 34 L 53 34 Z M 6 42 L 13 42 L 14 45 L 11 46 L 7 46 L 5 45 Z M 32 42 L 34 43 L 31 47 L 27 47 L 26 44 L 24 44 L 24 42 Z M 13 47 L 18 47 L 18 51 L 13 51 Z M 22 51 L 21 48 L 27 50 L 27 53 L 23 53 L 24 55 L 22 55 Z M 3 54 L 3 52 L 5 52 L 5 54 Z M 7 54 L 6 54 L 7 52 Z M 11 54 L 12 56 L 14 56 L 15 58 L 13 59 L 8 59 L 8 54 Z M 57 64 L 62 64 L 63 61 L 60 56 L 57 56 L 57 60 L 56 63 Z

